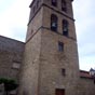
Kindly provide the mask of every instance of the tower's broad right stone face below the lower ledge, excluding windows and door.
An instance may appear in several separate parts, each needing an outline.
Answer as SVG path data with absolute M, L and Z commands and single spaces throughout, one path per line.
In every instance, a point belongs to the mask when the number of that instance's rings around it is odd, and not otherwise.
M 64 52 L 58 51 L 58 41 L 65 43 Z M 43 29 L 40 59 L 39 95 L 55 95 L 56 89 L 65 89 L 66 95 L 77 95 L 79 65 L 77 44 L 72 40 Z M 66 76 L 62 69 L 66 70 Z

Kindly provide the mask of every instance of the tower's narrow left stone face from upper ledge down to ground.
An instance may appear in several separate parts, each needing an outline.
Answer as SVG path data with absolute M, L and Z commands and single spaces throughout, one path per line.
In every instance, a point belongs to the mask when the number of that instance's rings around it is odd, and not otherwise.
M 21 72 L 19 95 L 38 95 L 39 57 L 41 50 L 42 11 L 28 25 L 23 67 Z M 33 32 L 31 33 L 31 30 Z M 26 81 L 27 80 L 27 81 Z

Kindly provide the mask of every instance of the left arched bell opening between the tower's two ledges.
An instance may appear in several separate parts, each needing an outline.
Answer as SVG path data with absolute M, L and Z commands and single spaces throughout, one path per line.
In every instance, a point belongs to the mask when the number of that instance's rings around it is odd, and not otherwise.
M 57 16 L 55 14 L 51 15 L 51 30 L 57 31 Z

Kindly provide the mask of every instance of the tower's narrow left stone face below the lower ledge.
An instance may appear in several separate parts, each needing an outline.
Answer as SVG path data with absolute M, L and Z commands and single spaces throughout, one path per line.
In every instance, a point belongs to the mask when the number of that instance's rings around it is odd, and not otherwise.
M 26 43 L 18 95 L 38 95 L 41 31 Z

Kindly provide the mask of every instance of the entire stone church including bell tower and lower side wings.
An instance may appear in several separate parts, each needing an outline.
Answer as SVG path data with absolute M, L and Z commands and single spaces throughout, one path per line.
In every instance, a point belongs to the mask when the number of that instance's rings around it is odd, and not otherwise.
M 0 36 L 0 78 L 13 78 L 16 95 L 95 95 L 80 70 L 73 0 L 32 0 L 26 42 Z

